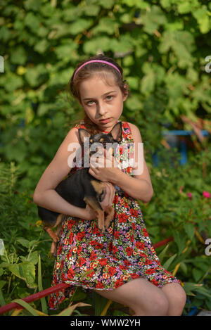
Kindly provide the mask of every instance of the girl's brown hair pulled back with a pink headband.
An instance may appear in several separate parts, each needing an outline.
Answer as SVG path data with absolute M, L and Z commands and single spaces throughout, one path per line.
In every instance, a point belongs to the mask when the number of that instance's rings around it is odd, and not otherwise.
M 113 77 L 115 78 L 115 84 L 117 84 L 117 86 L 120 87 L 123 95 L 126 95 L 128 93 L 128 86 L 126 87 L 127 84 L 126 80 L 123 80 L 123 78 L 120 76 L 120 73 L 115 68 L 105 63 L 98 63 L 98 62 L 89 63 L 87 65 L 84 65 L 75 75 L 75 72 L 82 64 L 89 62 L 91 60 L 103 60 L 112 63 L 120 70 L 121 75 L 123 77 L 122 68 L 120 67 L 120 65 L 118 65 L 118 63 L 116 63 L 113 60 L 113 58 L 109 58 L 108 56 L 105 56 L 103 54 L 91 56 L 86 60 L 80 62 L 75 68 L 75 71 L 73 72 L 72 77 L 70 78 L 70 81 L 68 82 L 68 86 L 66 88 L 68 93 L 72 94 L 72 96 L 75 97 L 75 99 L 77 99 L 77 101 L 80 102 L 81 101 L 81 96 L 79 94 L 80 83 L 84 80 L 89 79 L 96 73 L 100 74 L 101 77 L 104 80 L 106 80 L 107 77 L 106 72 L 113 73 Z M 75 79 L 74 79 L 74 75 L 75 75 Z M 108 84 L 108 80 L 106 80 L 106 83 Z M 85 127 L 87 128 L 87 130 L 89 130 L 89 132 L 91 132 L 91 134 L 96 134 L 99 132 L 97 125 L 89 119 L 89 117 L 85 112 L 84 112 L 83 121 Z

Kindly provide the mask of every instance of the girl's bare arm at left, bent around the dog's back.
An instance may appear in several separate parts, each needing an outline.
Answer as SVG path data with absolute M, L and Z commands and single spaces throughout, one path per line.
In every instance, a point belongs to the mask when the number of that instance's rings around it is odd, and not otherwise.
M 74 152 L 68 151 L 68 145 L 72 142 L 79 144 L 77 128 L 70 129 L 53 160 L 42 174 L 34 190 L 33 200 L 37 205 L 54 212 L 85 220 L 95 219 L 96 215 L 94 216 L 94 212 L 89 207 L 83 209 L 71 205 L 54 190 L 72 168 L 68 165 L 68 157 Z

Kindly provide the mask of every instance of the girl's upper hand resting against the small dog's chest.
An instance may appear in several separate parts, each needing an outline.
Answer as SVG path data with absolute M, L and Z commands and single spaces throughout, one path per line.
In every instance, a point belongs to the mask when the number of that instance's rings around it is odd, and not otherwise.
M 107 154 L 106 149 L 104 155 L 99 156 L 96 162 L 89 163 L 89 167 L 89 174 L 103 182 L 112 182 L 116 172 L 120 170 L 115 158 Z

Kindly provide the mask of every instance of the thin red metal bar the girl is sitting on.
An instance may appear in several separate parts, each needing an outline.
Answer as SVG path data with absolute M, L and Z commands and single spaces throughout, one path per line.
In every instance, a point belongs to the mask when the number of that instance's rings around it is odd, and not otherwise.
M 163 241 L 153 244 L 153 248 L 160 248 L 160 246 L 164 246 L 165 244 L 167 244 L 170 241 L 174 241 L 174 237 L 171 236 L 168 239 L 164 239 Z M 43 291 L 34 293 L 31 296 L 27 296 L 27 297 L 23 298 L 23 300 L 26 303 L 32 303 L 32 301 L 39 300 L 41 298 L 49 296 L 51 293 L 56 293 L 58 291 L 63 290 L 64 288 L 68 288 L 68 286 L 70 286 L 70 285 L 66 284 L 66 283 L 60 283 L 60 284 L 57 284 L 56 286 L 51 286 L 51 288 L 46 288 Z M 6 312 L 9 312 L 10 310 L 14 310 L 14 309 L 23 310 L 23 307 L 18 305 L 17 303 L 9 303 L 7 305 L 0 307 L 0 315 L 4 314 Z

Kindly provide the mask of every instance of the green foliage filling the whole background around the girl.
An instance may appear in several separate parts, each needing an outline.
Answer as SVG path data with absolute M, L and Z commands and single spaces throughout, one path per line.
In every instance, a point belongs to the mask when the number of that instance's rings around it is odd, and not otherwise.
M 104 52 L 122 65 L 129 84 L 130 96 L 120 119 L 139 127 L 145 146 L 154 189 L 150 203 L 140 202 L 148 231 L 153 243 L 174 236 L 173 242 L 158 248 L 160 259 L 170 272 L 177 272 L 186 293 L 192 295 L 191 303 L 210 309 L 210 257 L 198 239 L 198 234 L 205 239 L 211 232 L 210 199 L 203 196 L 211 184 L 209 139 L 198 141 L 193 135 L 188 141 L 192 148 L 188 164 L 181 167 L 174 150 L 163 147 L 162 136 L 165 125 L 193 128 L 182 115 L 210 130 L 210 73 L 205 70 L 205 58 L 210 55 L 210 4 L 2 0 L 0 8 L 0 55 L 4 57 L 0 238 L 6 246 L 0 264 L 1 305 L 41 290 L 42 284 L 51 285 L 51 241 L 39 226 L 32 193 L 65 135 L 81 118 L 81 108 L 65 92 L 75 65 Z M 152 166 L 155 151 L 160 156 L 158 167 Z M 82 298 L 95 304 L 95 297 L 83 294 L 78 290 L 73 301 Z M 41 307 L 46 314 L 44 301 L 31 307 Z M 105 303 L 101 300 L 102 308 Z M 65 315 L 72 312 L 68 305 L 63 307 Z M 109 307 L 110 315 L 124 315 L 115 307 Z M 187 304 L 186 311 L 190 307 Z M 102 311 L 97 308 L 94 305 L 92 312 Z M 34 311 L 28 308 L 23 314 L 27 312 Z

